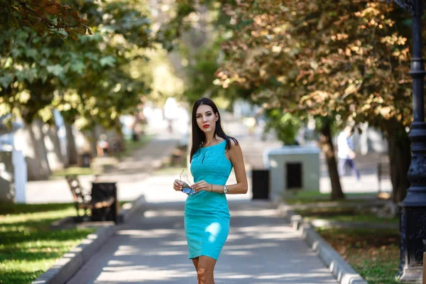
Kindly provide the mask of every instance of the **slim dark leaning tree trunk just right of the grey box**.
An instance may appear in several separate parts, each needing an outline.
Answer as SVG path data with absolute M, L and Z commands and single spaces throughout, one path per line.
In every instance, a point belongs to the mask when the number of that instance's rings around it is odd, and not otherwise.
M 344 193 L 340 185 L 339 173 L 337 171 L 336 157 L 332 141 L 332 131 L 328 119 L 325 119 L 320 129 L 320 146 L 327 160 L 330 181 L 332 182 L 332 200 L 343 200 Z

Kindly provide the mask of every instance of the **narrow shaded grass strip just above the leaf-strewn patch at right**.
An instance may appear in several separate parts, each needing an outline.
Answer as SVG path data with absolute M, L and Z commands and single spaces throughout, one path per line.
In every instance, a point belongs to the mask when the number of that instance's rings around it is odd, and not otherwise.
M 397 217 L 384 219 L 370 212 L 359 212 L 355 207 L 314 207 L 310 209 L 295 209 L 297 214 L 312 219 L 327 219 L 339 222 L 372 222 L 380 224 L 398 224 Z

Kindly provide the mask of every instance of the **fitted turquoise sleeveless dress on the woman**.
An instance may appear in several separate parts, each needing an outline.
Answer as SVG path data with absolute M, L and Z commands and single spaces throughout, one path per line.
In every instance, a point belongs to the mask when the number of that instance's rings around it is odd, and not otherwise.
M 198 149 L 191 163 L 194 182 L 204 180 L 212 185 L 225 185 L 232 170 L 225 150 L 226 141 Z M 217 260 L 228 237 L 230 217 L 224 193 L 200 191 L 188 195 L 185 202 L 188 258 L 210 256 Z

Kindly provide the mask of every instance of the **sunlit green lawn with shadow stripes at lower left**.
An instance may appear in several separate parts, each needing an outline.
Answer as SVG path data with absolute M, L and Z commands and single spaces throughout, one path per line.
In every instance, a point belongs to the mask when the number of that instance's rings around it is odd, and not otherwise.
M 0 283 L 31 283 L 95 229 L 50 230 L 72 204 L 0 204 Z

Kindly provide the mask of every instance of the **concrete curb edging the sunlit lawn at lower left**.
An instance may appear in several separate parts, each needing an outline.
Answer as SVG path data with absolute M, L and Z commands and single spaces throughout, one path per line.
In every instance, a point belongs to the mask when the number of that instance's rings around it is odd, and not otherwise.
M 114 225 L 112 224 L 107 224 L 97 229 L 96 232 L 83 239 L 80 245 L 65 253 L 48 271 L 40 275 L 31 284 L 67 282 L 102 247 L 112 234 L 114 234 Z

